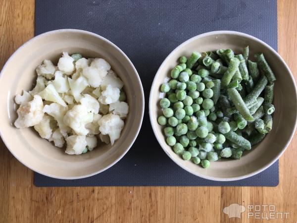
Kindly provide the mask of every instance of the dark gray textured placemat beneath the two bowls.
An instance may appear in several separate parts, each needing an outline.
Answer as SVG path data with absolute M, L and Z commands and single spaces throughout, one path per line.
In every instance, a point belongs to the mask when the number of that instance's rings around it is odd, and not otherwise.
M 130 151 L 113 167 L 80 180 L 35 173 L 36 186 L 277 186 L 278 162 L 244 180 L 218 182 L 178 167 L 157 143 L 148 118 L 153 77 L 165 57 L 198 34 L 234 30 L 277 49 L 277 0 L 36 0 L 35 34 L 88 30 L 105 37 L 132 60 L 141 77 L 146 112 Z

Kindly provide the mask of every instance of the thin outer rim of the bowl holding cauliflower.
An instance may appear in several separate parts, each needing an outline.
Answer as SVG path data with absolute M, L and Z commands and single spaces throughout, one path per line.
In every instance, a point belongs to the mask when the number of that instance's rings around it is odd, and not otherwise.
M 89 176 L 93 176 L 93 175 L 96 175 L 100 172 L 103 172 L 104 170 L 112 167 L 113 165 L 115 165 L 118 161 L 120 161 L 125 155 L 126 153 L 130 150 L 130 148 L 132 147 L 132 145 L 134 144 L 137 136 L 139 135 L 139 132 L 140 132 L 140 129 L 141 129 L 141 126 L 142 126 L 142 123 L 143 123 L 143 118 L 144 118 L 144 112 L 145 112 L 145 95 L 144 95 L 144 88 L 143 88 L 143 85 L 142 85 L 142 82 L 141 82 L 141 79 L 140 79 L 140 76 L 135 68 L 135 66 L 133 65 L 133 63 L 131 62 L 131 60 L 129 59 L 129 57 L 118 47 L 116 46 L 114 43 L 112 43 L 111 41 L 107 40 L 106 38 L 96 34 L 96 33 L 93 33 L 93 32 L 90 32 L 90 31 L 86 31 L 86 30 L 81 30 L 81 29 L 57 29 L 57 30 L 52 30 L 52 31 L 49 31 L 49 32 L 45 32 L 45 33 L 41 33 L 33 38 L 31 38 L 30 40 L 26 41 L 24 44 L 22 44 L 11 56 L 9 56 L 9 58 L 7 59 L 7 61 L 5 62 L 5 64 L 3 65 L 1 71 L 0 71 L 0 80 L 1 80 L 1 76 L 2 76 L 2 73 L 4 72 L 7 64 L 10 62 L 10 60 L 12 60 L 14 58 L 14 56 L 21 50 L 23 49 L 25 46 L 27 46 L 28 44 L 30 44 L 31 42 L 34 42 L 35 40 L 37 39 L 40 39 L 40 38 L 43 38 L 44 36 L 48 36 L 48 35 L 52 35 L 52 34 L 55 34 L 55 33 L 63 33 L 63 32 L 67 32 L 67 33 L 82 33 L 82 34 L 87 34 L 87 35 L 90 35 L 90 36 L 94 36 L 100 40 L 103 40 L 105 42 L 107 42 L 108 44 L 110 44 L 112 47 L 114 47 L 116 50 L 118 50 L 120 52 L 120 54 L 122 54 L 125 59 L 129 62 L 130 66 L 132 67 L 132 69 L 134 70 L 135 74 L 136 74 L 136 77 L 137 77 L 137 80 L 138 80 L 138 83 L 141 87 L 141 97 L 142 97 L 142 111 L 141 111 L 141 117 L 140 117 L 140 122 L 138 124 L 138 127 L 137 127 L 137 131 L 136 131 L 136 134 L 135 136 L 133 137 L 132 141 L 131 141 L 131 144 L 127 147 L 127 149 L 124 151 L 123 154 L 121 154 L 114 162 L 112 162 L 110 165 L 108 165 L 107 167 L 104 167 L 102 169 L 100 169 L 99 171 L 96 171 L 96 172 L 93 172 L 93 173 L 90 173 L 90 174 L 86 174 L 86 175 L 78 175 L 78 176 L 55 176 L 55 175 L 52 175 L 52 174 L 48 174 L 46 172 L 43 172 L 43 171 L 40 171 L 40 170 L 37 170 L 35 168 L 32 168 L 32 167 L 29 167 L 29 165 L 25 164 L 22 162 L 22 159 L 18 156 L 16 156 L 16 154 L 9 148 L 8 146 L 8 143 L 6 142 L 5 138 L 2 136 L 2 131 L 0 129 L 0 137 L 4 143 L 4 145 L 6 146 L 6 148 L 10 151 L 10 153 L 21 163 L 23 164 L 25 167 L 28 167 L 30 169 L 32 169 L 33 171 L 37 172 L 37 173 L 40 173 L 42 175 L 45 175 L 45 176 L 49 176 L 49 177 L 52 177 L 52 178 L 56 178 L 56 179 L 82 179 L 82 178 L 86 178 L 86 177 L 89 177 Z

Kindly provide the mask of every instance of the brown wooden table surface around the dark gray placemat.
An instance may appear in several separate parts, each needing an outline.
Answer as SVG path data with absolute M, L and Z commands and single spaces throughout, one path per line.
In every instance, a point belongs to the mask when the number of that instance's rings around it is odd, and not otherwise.
M 34 0 L 0 0 L 0 68 L 34 36 Z M 278 52 L 297 78 L 297 0 L 278 0 Z M 227 223 L 232 203 L 274 205 L 297 222 L 297 137 L 280 159 L 277 187 L 49 187 L 33 185 L 33 171 L 19 163 L 0 141 L 0 222 L 3 223 Z M 255 208 L 259 208 L 255 207 Z M 271 206 L 272 207 L 272 206 Z M 264 206 L 261 206 L 263 211 Z M 253 211 L 250 211 L 253 212 Z M 269 213 L 268 213 L 269 214 Z M 264 216 L 266 216 L 264 212 Z M 283 218 L 285 214 L 283 215 Z M 272 216 L 273 218 L 273 216 Z

